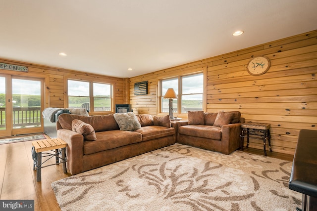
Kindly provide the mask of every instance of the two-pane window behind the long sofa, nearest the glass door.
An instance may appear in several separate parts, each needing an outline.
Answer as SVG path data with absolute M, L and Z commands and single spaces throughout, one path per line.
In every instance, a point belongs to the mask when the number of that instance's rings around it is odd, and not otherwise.
M 92 94 L 90 94 L 92 93 Z M 68 80 L 68 107 L 94 112 L 112 110 L 112 85 Z

